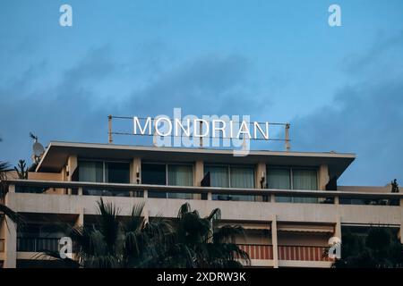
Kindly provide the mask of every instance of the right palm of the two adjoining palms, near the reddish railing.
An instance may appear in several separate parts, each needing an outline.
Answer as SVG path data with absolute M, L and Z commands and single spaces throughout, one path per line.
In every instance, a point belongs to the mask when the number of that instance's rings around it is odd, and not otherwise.
M 188 203 L 180 207 L 175 231 L 175 241 L 167 246 L 160 264 L 167 267 L 242 267 L 250 264 L 244 250 L 235 244 L 236 236 L 244 235 L 241 226 L 217 226 L 219 208 L 201 217 Z

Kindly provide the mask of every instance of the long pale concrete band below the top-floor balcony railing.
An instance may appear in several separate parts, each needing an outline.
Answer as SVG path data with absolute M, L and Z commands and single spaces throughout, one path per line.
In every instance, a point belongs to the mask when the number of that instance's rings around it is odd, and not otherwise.
M 13 209 L 20 213 L 39 214 L 98 214 L 98 196 L 50 195 L 29 193 L 8 193 Z M 246 202 L 219 200 L 184 200 L 167 198 L 103 197 L 114 203 L 121 215 L 129 215 L 135 204 L 145 202 L 148 215 L 176 217 L 178 209 L 189 202 L 201 215 L 210 214 L 214 208 L 221 210 L 222 219 L 232 221 L 270 222 L 277 215 L 279 222 L 293 223 L 341 223 L 400 225 L 400 206 L 351 206 L 327 204 L 291 204 L 274 202 Z

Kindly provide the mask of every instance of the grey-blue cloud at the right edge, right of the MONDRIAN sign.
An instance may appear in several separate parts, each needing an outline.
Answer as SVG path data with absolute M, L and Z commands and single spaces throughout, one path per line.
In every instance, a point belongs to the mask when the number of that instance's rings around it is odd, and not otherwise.
M 292 121 L 294 149 L 334 150 L 357 154 L 356 162 L 343 174 L 344 184 L 382 185 L 403 180 L 403 81 L 387 50 L 403 46 L 402 34 L 381 38 L 369 53 L 356 59 L 359 75 L 335 94 L 329 105 Z M 367 67 L 382 63 L 389 73 L 373 73 Z M 363 79 L 363 80 L 357 80 Z

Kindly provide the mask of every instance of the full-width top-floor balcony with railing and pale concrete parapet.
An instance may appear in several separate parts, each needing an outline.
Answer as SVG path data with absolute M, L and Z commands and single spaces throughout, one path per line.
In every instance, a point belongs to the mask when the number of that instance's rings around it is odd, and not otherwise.
M 342 223 L 384 223 L 399 226 L 401 206 L 386 202 L 399 202 L 400 205 L 403 199 L 402 193 L 346 190 L 236 189 L 82 181 L 7 182 L 11 187 L 7 194 L 8 201 L 15 211 L 40 214 L 80 214 L 81 209 L 84 215 L 97 214 L 97 201 L 102 196 L 114 202 L 123 215 L 130 214 L 134 204 L 144 202 L 149 216 L 161 214 L 175 218 L 179 207 L 188 201 L 201 215 L 210 214 L 211 209 L 219 207 L 222 218 L 226 220 L 268 222 L 276 215 L 279 222 L 286 223 L 336 223 L 336 218 L 342 217 Z M 35 191 L 31 193 L 31 189 Z M 39 193 L 38 189 L 43 191 Z M 88 192 L 88 189 L 104 191 Z M 216 195 L 226 199 L 215 200 L 214 198 L 218 198 Z M 263 197 L 265 199 L 256 199 Z M 277 199 L 278 197 L 297 199 L 284 201 Z M 362 200 L 371 200 L 373 203 L 363 205 Z M 346 201 L 348 203 L 343 204 Z

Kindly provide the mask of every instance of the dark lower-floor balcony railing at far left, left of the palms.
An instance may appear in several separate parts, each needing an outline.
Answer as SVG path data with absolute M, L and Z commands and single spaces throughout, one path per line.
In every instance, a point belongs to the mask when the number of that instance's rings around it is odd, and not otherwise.
M 22 252 L 43 252 L 43 251 L 59 251 L 60 245 L 57 238 L 17 238 L 17 251 Z

